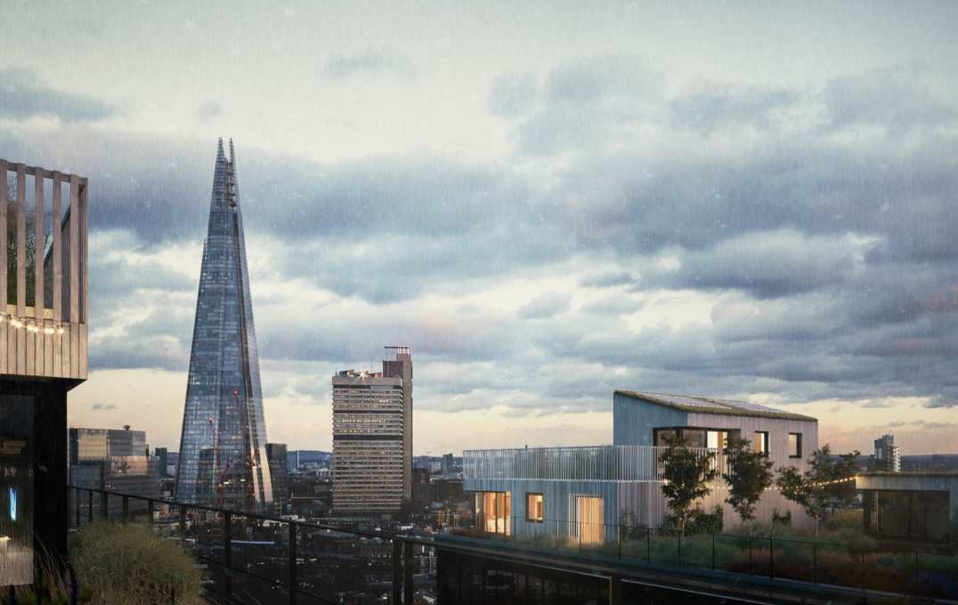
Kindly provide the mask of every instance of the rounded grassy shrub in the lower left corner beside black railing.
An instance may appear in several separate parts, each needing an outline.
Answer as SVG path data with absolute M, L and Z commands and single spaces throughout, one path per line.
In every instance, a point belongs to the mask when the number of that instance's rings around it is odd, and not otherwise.
M 80 585 L 103 605 L 200 605 L 200 572 L 179 544 L 146 527 L 94 523 L 71 544 Z

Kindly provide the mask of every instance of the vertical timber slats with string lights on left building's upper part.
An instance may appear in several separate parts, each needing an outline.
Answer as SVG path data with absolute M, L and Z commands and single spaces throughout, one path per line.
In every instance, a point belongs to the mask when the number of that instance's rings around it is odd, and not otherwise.
M 0 174 L 0 374 L 84 380 L 87 179 L 3 159 Z

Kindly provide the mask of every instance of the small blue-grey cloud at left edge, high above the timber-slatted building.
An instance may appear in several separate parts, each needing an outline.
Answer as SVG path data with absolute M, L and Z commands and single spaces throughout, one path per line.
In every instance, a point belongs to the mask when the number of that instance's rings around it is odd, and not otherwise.
M 65 123 L 97 122 L 117 115 L 115 105 L 68 93 L 23 69 L 0 69 L 0 119 L 57 118 Z

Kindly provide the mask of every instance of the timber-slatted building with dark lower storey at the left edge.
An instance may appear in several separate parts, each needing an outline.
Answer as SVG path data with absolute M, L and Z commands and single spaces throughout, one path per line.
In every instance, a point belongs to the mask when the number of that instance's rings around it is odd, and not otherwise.
M 0 159 L 0 585 L 66 551 L 66 393 L 86 379 L 86 179 Z M 41 548 L 42 547 L 42 548 Z

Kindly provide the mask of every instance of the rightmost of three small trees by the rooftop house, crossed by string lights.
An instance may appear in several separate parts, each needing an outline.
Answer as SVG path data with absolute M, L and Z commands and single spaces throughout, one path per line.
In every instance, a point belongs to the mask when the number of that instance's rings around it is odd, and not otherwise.
M 805 508 L 805 512 L 815 520 L 815 535 L 818 535 L 818 522 L 830 500 L 839 504 L 849 504 L 855 498 L 855 482 L 858 474 L 857 458 L 861 453 L 855 450 L 848 454 L 833 456 L 828 444 L 811 453 L 809 470 L 799 472 L 794 466 L 778 469 L 775 484 L 782 495 L 795 504 Z

